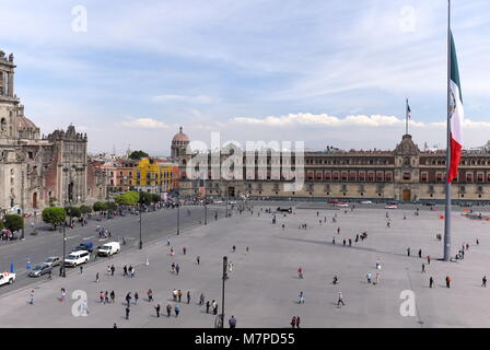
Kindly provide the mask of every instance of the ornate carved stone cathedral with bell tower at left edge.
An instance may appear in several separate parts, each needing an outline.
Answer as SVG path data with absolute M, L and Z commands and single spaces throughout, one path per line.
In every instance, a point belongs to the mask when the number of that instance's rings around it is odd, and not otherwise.
M 14 94 L 13 55 L 0 51 L 0 209 L 35 211 L 102 197 L 105 177 L 92 168 L 86 135 L 69 126 L 47 137 L 24 115 Z

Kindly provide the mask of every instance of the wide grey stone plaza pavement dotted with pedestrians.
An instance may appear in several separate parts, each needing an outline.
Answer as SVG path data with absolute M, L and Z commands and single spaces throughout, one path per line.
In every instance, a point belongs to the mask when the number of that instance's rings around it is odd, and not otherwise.
M 296 205 L 298 206 L 298 205 Z M 264 208 L 268 208 L 265 207 Z M 143 250 L 131 250 L 112 260 L 101 259 L 88 266 L 83 275 L 70 273 L 66 279 L 46 277 L 35 284 L 35 303 L 30 305 L 31 288 L 8 293 L 0 298 L 0 327 L 213 327 L 215 316 L 206 314 L 206 307 L 197 305 L 199 294 L 206 300 L 215 299 L 221 312 L 222 257 L 233 261 L 233 271 L 225 285 L 225 314 L 235 315 L 237 327 L 289 327 L 293 315 L 301 316 L 302 327 L 489 327 L 490 288 L 481 288 L 481 278 L 489 273 L 489 222 L 463 218 L 453 213 L 453 250 L 469 243 L 469 250 L 460 262 L 436 261 L 442 255 L 442 242 L 435 240 L 443 233 L 441 211 L 420 211 L 416 217 L 410 210 L 389 211 L 392 228 L 386 228 L 384 209 L 364 206 L 354 211 L 296 209 L 293 214 L 278 214 L 277 224 L 271 214 L 260 212 L 259 207 L 249 212 L 234 213 L 232 218 L 209 221 L 171 236 L 176 256 L 170 256 L 166 237 L 147 244 Z M 337 213 L 337 223 L 331 218 Z M 404 220 L 404 213 L 407 219 Z M 327 222 L 318 223 L 327 217 Z M 299 224 L 307 223 L 307 230 Z M 281 225 L 285 229 L 282 230 Z M 340 234 L 337 228 L 340 226 Z M 366 231 L 368 240 L 353 243 L 357 233 Z M 336 244 L 331 243 L 336 236 Z M 352 238 L 352 247 L 342 240 Z M 476 245 L 476 238 L 480 244 Z M 231 247 L 236 245 L 236 253 Z M 182 248 L 187 247 L 183 255 Z M 249 246 L 249 254 L 245 247 Z M 411 248 L 411 257 L 406 249 Z M 432 257 L 430 265 L 418 258 L 418 250 Z M 196 256 L 201 257 L 200 266 Z M 454 255 L 454 254 L 453 254 Z M 149 266 L 144 266 L 145 257 Z M 375 262 L 382 265 L 380 284 L 366 282 L 365 275 L 374 278 Z M 172 262 L 180 265 L 180 273 L 173 275 Z M 427 273 L 421 273 L 425 262 Z M 114 277 L 106 275 L 108 264 L 116 266 Z M 136 278 L 122 276 L 124 265 L 136 266 Z M 298 278 L 298 268 L 304 270 L 304 279 Z M 95 282 L 100 272 L 101 281 Z M 340 283 L 331 279 L 339 276 Z M 446 289 L 445 276 L 453 285 Z M 429 289 L 429 277 L 435 285 Z M 61 288 L 67 289 L 65 303 L 58 301 Z M 153 303 L 147 301 L 147 290 L 153 290 Z M 167 318 L 165 305 L 172 301 L 172 291 L 182 289 L 184 296 L 180 315 Z M 86 317 L 74 317 L 71 293 L 83 290 L 89 295 Z M 116 292 L 115 304 L 101 304 L 100 291 Z M 191 293 L 187 305 L 185 294 Z M 411 290 L 416 295 L 416 316 L 401 316 L 400 292 Z M 131 306 L 130 319 L 125 319 L 127 292 L 138 291 L 138 305 Z M 305 303 L 298 304 L 298 295 L 304 291 Z M 337 307 L 337 293 L 343 293 L 346 306 Z M 155 317 L 153 306 L 160 303 L 161 313 Z M 228 325 L 228 323 L 226 323 Z

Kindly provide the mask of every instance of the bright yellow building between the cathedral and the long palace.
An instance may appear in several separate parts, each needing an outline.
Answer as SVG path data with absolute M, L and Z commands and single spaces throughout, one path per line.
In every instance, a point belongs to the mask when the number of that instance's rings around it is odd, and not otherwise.
M 164 192 L 174 189 L 173 164 L 142 159 L 132 172 L 132 183 L 137 190 L 147 192 Z

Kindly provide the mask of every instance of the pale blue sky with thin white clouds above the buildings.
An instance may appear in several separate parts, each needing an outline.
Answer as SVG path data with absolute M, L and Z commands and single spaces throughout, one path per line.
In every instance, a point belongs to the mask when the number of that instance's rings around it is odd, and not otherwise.
M 0 0 L 0 49 L 43 133 L 92 152 L 192 140 L 445 142 L 446 0 Z M 86 10 L 86 27 L 83 14 Z M 490 2 L 453 0 L 465 143 L 490 139 Z M 85 31 L 86 28 L 86 31 Z

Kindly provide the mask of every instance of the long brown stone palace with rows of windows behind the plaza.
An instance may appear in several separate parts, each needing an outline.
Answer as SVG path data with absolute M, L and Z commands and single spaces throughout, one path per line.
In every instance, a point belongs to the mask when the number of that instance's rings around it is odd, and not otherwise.
M 179 162 L 182 196 L 202 195 L 205 190 L 207 197 L 213 198 L 248 196 L 397 201 L 441 201 L 445 198 L 445 150 L 420 151 L 410 135 L 405 135 L 393 151 L 305 151 L 304 186 L 295 191 L 283 190 L 287 180 L 282 171 L 280 178 L 272 178 L 271 168 L 275 163 L 282 166 L 282 156 L 273 158 L 270 152 L 243 155 L 243 179 L 212 179 L 210 155 L 210 179 L 190 179 L 186 166 L 196 153 L 186 154 L 185 148 L 189 143 L 186 135 L 177 139 L 179 142 L 173 144 L 172 151 Z M 228 156 L 221 154 L 221 164 Z M 294 162 L 294 156 L 291 160 Z M 247 179 L 246 172 L 250 168 L 245 168 L 246 164 L 255 164 L 256 176 L 252 179 Z M 490 200 L 490 152 L 463 152 L 458 176 L 452 184 L 452 196 L 464 201 Z

